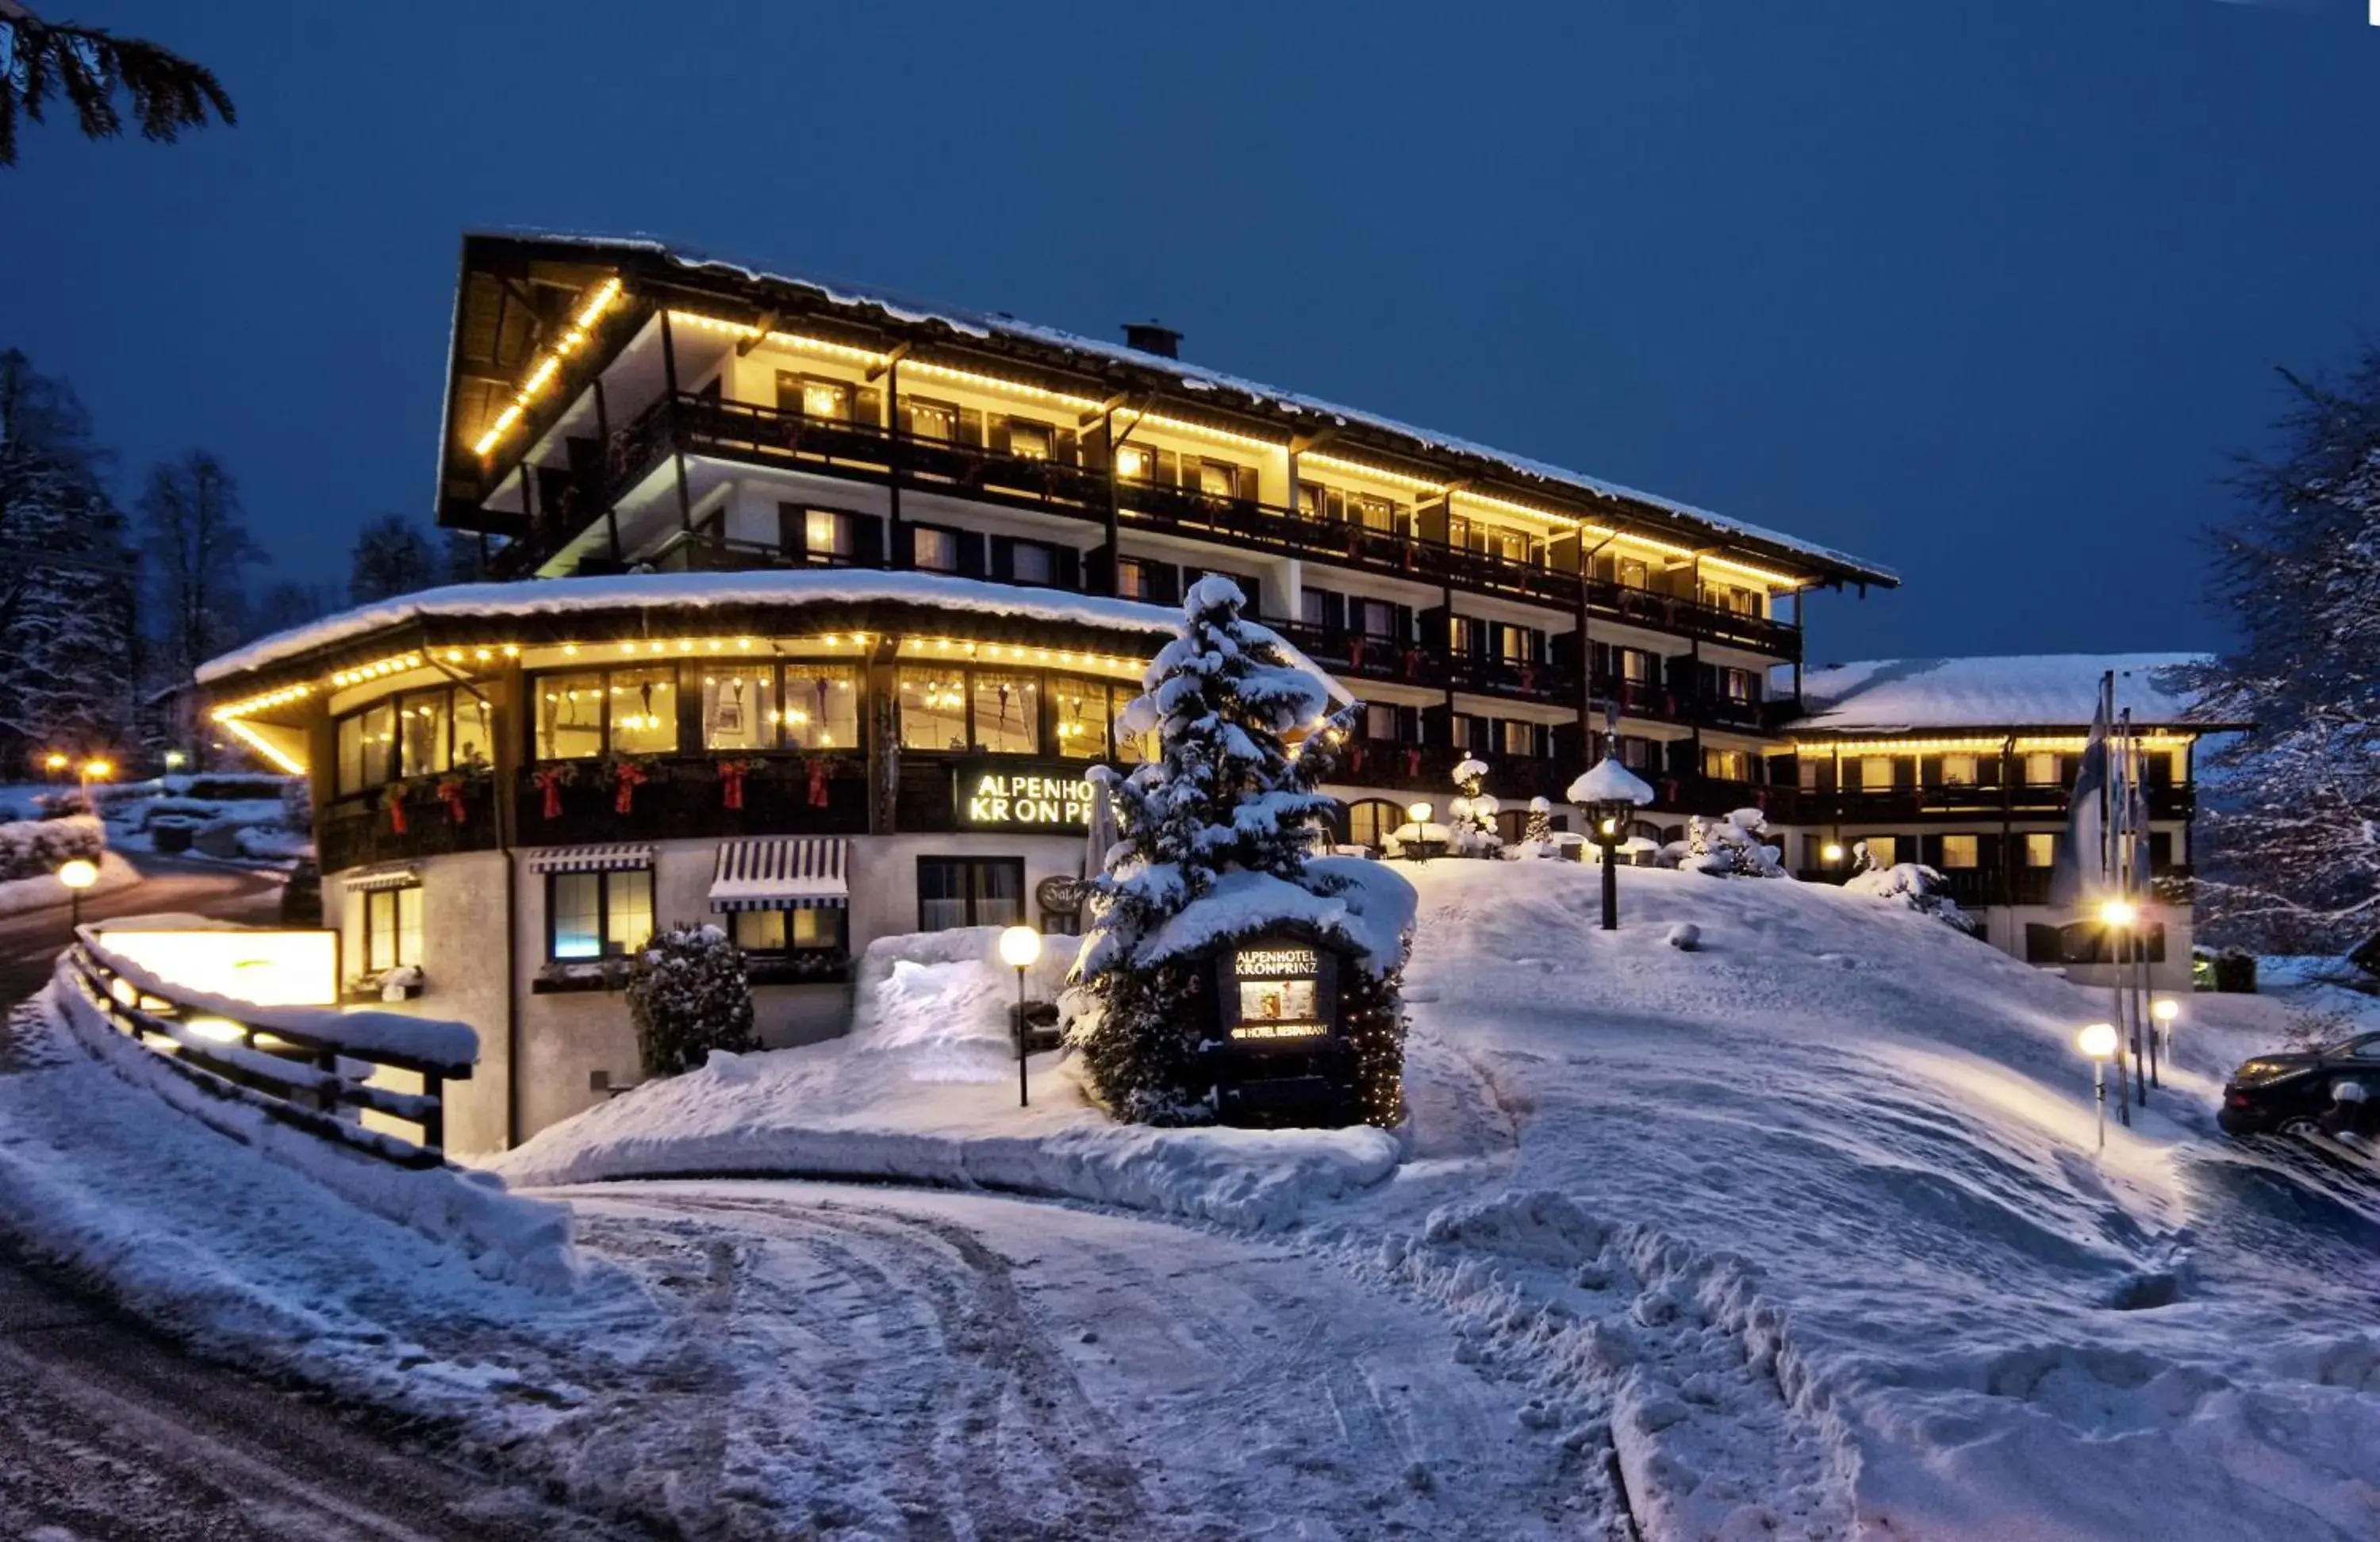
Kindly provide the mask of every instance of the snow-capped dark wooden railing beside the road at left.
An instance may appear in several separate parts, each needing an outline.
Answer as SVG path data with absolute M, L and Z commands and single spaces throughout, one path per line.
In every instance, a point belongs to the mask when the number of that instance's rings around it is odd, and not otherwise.
M 476 1035 L 462 1023 L 257 1007 L 183 990 L 112 954 L 88 926 L 76 930 L 67 964 L 98 1021 L 200 1092 L 381 1161 L 445 1164 L 445 1083 L 469 1080 L 478 1057 Z M 414 1076 L 421 1090 L 374 1085 L 383 1071 Z M 364 1114 L 412 1126 L 416 1135 L 367 1128 Z

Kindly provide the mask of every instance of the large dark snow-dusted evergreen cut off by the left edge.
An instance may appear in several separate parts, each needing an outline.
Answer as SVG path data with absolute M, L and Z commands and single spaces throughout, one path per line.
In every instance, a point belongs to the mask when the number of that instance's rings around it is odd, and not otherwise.
M 0 769 L 126 742 L 136 583 L 102 462 L 74 390 L 0 352 Z

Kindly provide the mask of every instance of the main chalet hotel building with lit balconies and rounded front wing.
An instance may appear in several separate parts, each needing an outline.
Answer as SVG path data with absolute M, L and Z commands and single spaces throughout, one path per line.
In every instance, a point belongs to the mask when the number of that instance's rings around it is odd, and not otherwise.
M 1202 573 L 1366 702 L 1342 840 L 1473 754 L 1518 833 L 1606 735 L 1654 828 L 1792 816 L 1804 595 L 1894 573 L 1176 345 L 464 240 L 438 521 L 507 583 L 202 671 L 312 773 L 357 988 L 483 1026 L 457 1149 L 633 1078 L 605 959 L 654 921 L 735 926 L 771 1042 L 840 1030 L 876 935 L 1066 926 L 1081 773 L 1142 752 L 1114 712 Z

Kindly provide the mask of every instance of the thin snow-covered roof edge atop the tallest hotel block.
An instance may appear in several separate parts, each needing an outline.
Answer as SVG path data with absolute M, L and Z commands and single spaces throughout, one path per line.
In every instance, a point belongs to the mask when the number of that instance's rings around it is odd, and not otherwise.
M 1228 390 L 1228 393 L 1247 397 L 1247 405 L 1252 405 L 1252 407 L 1273 407 L 1273 409 L 1285 412 L 1290 416 L 1323 419 L 1323 421 L 1316 424 L 1316 428 L 1321 428 L 1326 424 L 1345 424 L 1345 426 L 1373 428 L 1378 433 L 1392 433 L 1397 438 L 1414 440 L 1423 450 L 1438 450 L 1438 452 L 1445 452 L 1445 455 L 1466 455 L 1466 457 L 1473 457 L 1473 459 L 1495 462 L 1495 464 L 1504 466 L 1507 471 L 1511 471 L 1511 474 L 1516 474 L 1521 478 L 1554 483 L 1559 488 L 1566 488 L 1566 490 L 1573 490 L 1573 493 L 1587 493 L 1587 495 L 1595 495 L 1595 497 L 1611 497 L 1611 500 L 1635 502 L 1635 504 L 1642 504 L 1647 509 L 1656 509 L 1656 512 L 1673 514 L 1678 519 L 1692 521 L 1692 524 L 1704 526 L 1704 528 L 1709 528 L 1714 533 L 1721 533 L 1721 535 L 1737 535 L 1737 538 L 1745 538 L 1745 540 L 1756 540 L 1761 545 L 1775 547 L 1780 552 L 1797 552 L 1797 554 L 1809 557 L 1814 562 L 1823 562 L 1828 566 L 1842 569 L 1854 581 L 1885 583 L 1885 585 L 1897 585 L 1899 583 L 1899 573 L 1894 573 L 1887 566 L 1880 566 L 1880 564 L 1868 562 L 1864 557 L 1852 557 L 1849 552 L 1842 552 L 1842 550 L 1835 550 L 1835 547 L 1828 547 L 1828 545 L 1818 545 L 1814 540 L 1802 540 L 1799 535 L 1785 535 L 1783 531 L 1771 531 L 1771 528 L 1764 528 L 1764 526 L 1756 526 L 1756 524 L 1747 524 L 1742 519 L 1728 519 L 1728 516 L 1714 514 L 1709 509 L 1699 509 L 1695 504 L 1678 502 L 1673 497 L 1661 497 L 1656 493 L 1642 493 L 1637 488 L 1628 488 L 1628 485 L 1621 485 L 1621 483 L 1614 483 L 1614 481 L 1602 481 L 1602 478 L 1587 476 L 1583 471 L 1571 471 L 1566 466 L 1554 466 L 1549 462 L 1530 459 L 1526 455 L 1511 455 L 1509 450 L 1495 450 L 1495 447 L 1480 445 L 1476 440 L 1457 438 L 1457 435 L 1449 435 L 1449 433 L 1438 433 L 1438 431 L 1430 431 L 1430 428 L 1416 428 L 1414 424 L 1402 424 L 1397 419 L 1380 416 L 1376 412 L 1361 412 L 1357 407 L 1340 407 L 1338 402 L 1323 402 L 1319 397 L 1299 395 L 1295 390 L 1280 390 L 1276 386 L 1266 386 L 1261 381 L 1250 381 L 1250 378 L 1242 378 L 1242 376 L 1223 374 L 1223 371 L 1216 371 L 1216 369 L 1200 369 L 1195 364 L 1185 364 L 1180 359 L 1169 359 L 1164 355 L 1140 352 L 1138 347 L 1126 347 L 1121 343 L 1107 343 L 1102 338 L 1085 338 L 1081 333 L 1061 331 L 1057 326 L 1038 326 L 1033 321 L 1019 321 L 1014 316 L 1002 316 L 1002 314 L 990 314 L 990 312 L 976 312 L 976 309 L 964 309 L 964 307 L 952 307 L 952 305 L 935 305 L 935 302 L 914 300 L 914 297 L 907 297 L 907 295 L 900 295 L 900 293 L 892 293 L 892 290 L 883 290 L 883 288 L 873 288 L 873 286 L 854 286 L 854 283 L 843 283 L 843 281 L 833 281 L 833 278 L 816 278 L 816 276 L 804 276 L 804 274 L 785 274 L 785 271 L 778 271 L 778 269 L 771 269 L 771 267 L 762 267 L 762 264 L 733 262 L 733 259 L 712 257 L 712 255 L 704 255 L 704 252 L 697 252 L 697 250 L 690 250 L 690 247 L 676 247 L 676 245 L 669 245 L 669 243 L 657 240 L 652 236 L 600 236 L 600 233 L 588 233 L 588 231 L 536 231 L 536 228 L 486 231 L 486 236 L 519 238 L 519 240 L 550 240 L 550 243 L 569 243 L 569 245 L 585 245 L 585 247 L 612 247 L 612 250 L 650 252 L 650 255 L 662 257 L 664 262 L 669 262 L 674 267 L 681 267 L 681 269 L 688 269 L 688 271 L 697 271 L 697 274 L 700 271 L 728 274 L 728 276 L 743 278 L 747 283 L 795 283 L 795 286 L 816 290 L 819 295 L 823 295 L 833 305 L 852 305 L 852 307 L 862 307 L 864 305 L 864 307 L 873 307 L 873 309 L 885 312 L 895 321 L 940 324 L 940 326 L 947 326 L 947 328 L 952 328 L 957 333 L 973 336 L 973 338 L 1007 338 L 1007 340 L 1028 343 L 1028 345 L 1038 345 L 1038 347 L 1057 347 L 1057 350 L 1066 350 L 1066 352 L 1076 352 L 1076 355 L 1088 355 L 1088 357 L 1104 359 L 1104 362 L 1111 362 L 1111 364 L 1128 364 L 1133 369 L 1152 369 L 1152 371 L 1161 371 L 1161 374 L 1176 376 L 1180 381 L 1183 390 L 1204 390 L 1204 393 Z

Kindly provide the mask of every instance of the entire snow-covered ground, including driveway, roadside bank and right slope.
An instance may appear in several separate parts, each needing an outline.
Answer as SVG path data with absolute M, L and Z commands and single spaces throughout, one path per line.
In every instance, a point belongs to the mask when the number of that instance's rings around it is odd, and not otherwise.
M 1606 935 L 1595 869 L 1414 878 L 1404 1159 L 1290 1206 L 1183 1202 L 1214 1171 L 1059 1068 L 1016 1111 L 992 988 L 912 959 L 947 973 L 883 971 L 871 1030 L 638 1090 L 507 1166 L 1081 1199 L 557 1187 L 583 1271 L 538 1295 L 336 1223 L 26 1018 L 0 1218 L 219 1347 L 697 1535 L 2380 1535 L 2380 1204 L 2211 1133 L 2309 988 L 2192 997 L 2168 1085 L 2094 1156 L 2073 1033 L 2104 1002 L 1933 919 L 1630 869 Z M 1104 1147 L 1097 1180 L 1069 1145 Z

